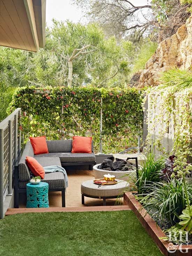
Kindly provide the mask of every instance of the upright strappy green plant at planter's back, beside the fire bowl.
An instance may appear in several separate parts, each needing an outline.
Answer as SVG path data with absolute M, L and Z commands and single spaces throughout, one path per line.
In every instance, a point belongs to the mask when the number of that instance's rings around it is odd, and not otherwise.
M 160 171 L 165 167 L 163 157 L 155 159 L 153 153 L 149 153 L 146 162 L 138 170 L 138 180 L 136 181 L 137 191 L 139 195 L 149 193 L 149 184 L 160 181 Z

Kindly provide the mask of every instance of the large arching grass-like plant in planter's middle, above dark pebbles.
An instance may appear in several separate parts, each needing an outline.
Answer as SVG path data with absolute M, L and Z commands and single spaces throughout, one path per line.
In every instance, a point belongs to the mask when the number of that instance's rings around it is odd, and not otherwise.
M 178 216 L 185 209 L 186 197 L 182 179 L 172 179 L 168 182 L 151 183 L 146 186 L 151 192 L 142 200 L 143 206 L 153 217 L 168 219 L 172 225 L 180 220 Z M 189 200 L 192 199 L 192 186 L 186 185 Z

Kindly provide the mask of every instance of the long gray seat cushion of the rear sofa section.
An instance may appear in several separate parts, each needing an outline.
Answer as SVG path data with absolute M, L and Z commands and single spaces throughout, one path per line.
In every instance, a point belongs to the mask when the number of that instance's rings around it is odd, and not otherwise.
M 94 153 L 48 153 L 48 154 L 40 154 L 35 155 L 35 158 L 39 157 L 59 157 L 61 163 L 71 163 L 71 162 L 95 162 L 95 154 Z

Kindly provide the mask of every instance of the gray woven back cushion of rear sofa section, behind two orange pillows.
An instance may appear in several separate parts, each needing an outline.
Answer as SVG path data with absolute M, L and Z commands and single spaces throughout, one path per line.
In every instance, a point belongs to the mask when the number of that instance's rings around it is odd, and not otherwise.
M 49 153 L 71 152 L 73 140 L 47 140 L 47 148 Z M 92 152 L 94 152 L 92 140 Z

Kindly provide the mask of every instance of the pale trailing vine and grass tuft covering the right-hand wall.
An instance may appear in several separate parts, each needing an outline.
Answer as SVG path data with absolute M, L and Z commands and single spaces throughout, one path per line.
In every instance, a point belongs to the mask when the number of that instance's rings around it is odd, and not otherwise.
M 173 138 L 172 152 L 192 156 L 192 72 L 169 70 L 161 74 L 160 86 L 148 88 L 147 145 L 164 154 L 164 139 Z M 158 136 L 156 136 L 158 135 Z

